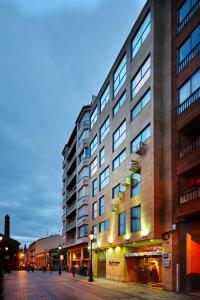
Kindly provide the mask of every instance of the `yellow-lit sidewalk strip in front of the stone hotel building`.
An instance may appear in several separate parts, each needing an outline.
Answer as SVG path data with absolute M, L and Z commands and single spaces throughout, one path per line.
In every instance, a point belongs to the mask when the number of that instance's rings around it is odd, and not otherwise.
M 76 275 L 74 280 L 84 282 L 88 285 L 94 285 L 103 289 L 117 291 L 119 294 L 127 294 L 127 297 L 134 296 L 139 299 L 147 300 L 197 300 L 197 296 L 190 296 L 184 294 L 177 294 L 174 292 L 165 291 L 159 287 L 152 287 L 146 284 L 132 283 L 132 282 L 119 282 L 108 280 L 105 278 L 94 278 L 94 282 L 88 282 L 88 277 Z

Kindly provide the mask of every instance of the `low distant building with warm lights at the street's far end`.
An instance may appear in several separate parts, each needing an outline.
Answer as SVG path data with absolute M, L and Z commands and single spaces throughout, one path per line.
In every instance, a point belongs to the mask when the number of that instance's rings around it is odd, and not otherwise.
M 50 265 L 57 266 L 59 262 L 59 245 L 62 245 L 62 237 L 53 235 L 41 238 L 33 242 L 27 250 L 27 265 L 39 270 L 49 269 Z

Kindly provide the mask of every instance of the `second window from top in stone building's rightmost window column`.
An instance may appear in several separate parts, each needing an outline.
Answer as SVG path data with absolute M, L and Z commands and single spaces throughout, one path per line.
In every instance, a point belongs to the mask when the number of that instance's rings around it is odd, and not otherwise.
M 145 84 L 151 73 L 150 56 L 143 63 L 133 80 L 131 81 L 132 99 Z

